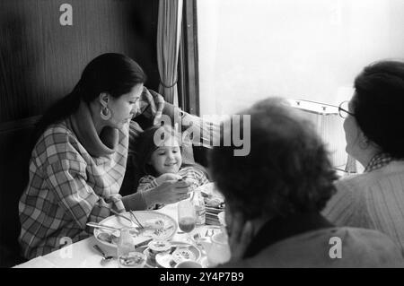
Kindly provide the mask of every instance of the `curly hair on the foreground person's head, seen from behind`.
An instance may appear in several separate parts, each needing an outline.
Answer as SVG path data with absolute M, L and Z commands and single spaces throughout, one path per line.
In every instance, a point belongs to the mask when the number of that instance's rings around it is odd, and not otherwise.
M 250 115 L 250 154 L 234 156 L 234 145 L 209 152 L 211 176 L 226 204 L 247 219 L 320 212 L 337 176 L 312 124 L 277 98 L 239 115 Z M 232 130 L 240 126 L 232 123 Z

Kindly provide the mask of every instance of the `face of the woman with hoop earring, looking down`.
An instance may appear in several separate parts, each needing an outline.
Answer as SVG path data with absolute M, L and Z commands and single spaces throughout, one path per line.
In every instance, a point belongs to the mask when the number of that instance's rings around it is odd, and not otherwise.
M 111 117 L 109 124 L 111 127 L 121 129 L 134 117 L 139 109 L 139 99 L 143 91 L 143 83 L 136 84 L 131 91 L 122 94 L 115 99 L 110 96 L 108 108 Z

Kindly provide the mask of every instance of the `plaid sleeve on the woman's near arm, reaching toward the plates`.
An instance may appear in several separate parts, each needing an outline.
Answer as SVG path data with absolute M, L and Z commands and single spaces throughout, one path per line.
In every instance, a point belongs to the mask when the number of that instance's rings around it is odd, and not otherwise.
M 58 205 L 83 230 L 88 221 L 101 221 L 110 209 L 125 210 L 119 195 L 102 198 L 86 182 L 85 164 L 78 160 L 57 160 L 46 168 L 48 187 L 54 190 Z M 60 218 L 55 218 L 57 221 Z

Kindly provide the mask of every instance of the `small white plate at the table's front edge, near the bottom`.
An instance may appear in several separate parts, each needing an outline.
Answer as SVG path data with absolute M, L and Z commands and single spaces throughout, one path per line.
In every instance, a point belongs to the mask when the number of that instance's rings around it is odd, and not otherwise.
M 175 250 L 173 249 L 174 247 L 176 247 Z M 183 257 L 182 260 L 179 256 L 176 256 L 176 258 L 174 259 L 172 255 L 176 253 L 176 251 L 179 249 L 178 247 L 186 247 L 184 249 L 188 249 L 189 253 L 187 254 L 189 256 Z M 170 254 L 171 251 L 172 254 Z M 177 264 L 176 261 L 185 261 L 186 259 L 198 261 L 201 256 L 200 250 L 197 247 L 194 247 L 193 245 L 182 241 L 171 241 L 171 251 L 157 254 L 155 256 L 156 263 L 163 268 L 175 268 L 175 265 Z M 177 251 L 177 253 L 178 252 L 179 251 Z

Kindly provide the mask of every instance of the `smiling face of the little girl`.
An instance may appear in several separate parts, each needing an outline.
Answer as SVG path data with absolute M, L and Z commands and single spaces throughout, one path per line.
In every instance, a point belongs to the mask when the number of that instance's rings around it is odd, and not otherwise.
M 172 136 L 167 138 L 162 145 L 154 150 L 149 163 L 154 167 L 157 176 L 166 173 L 178 173 L 182 164 L 182 157 L 177 139 Z

